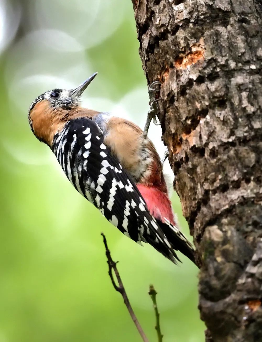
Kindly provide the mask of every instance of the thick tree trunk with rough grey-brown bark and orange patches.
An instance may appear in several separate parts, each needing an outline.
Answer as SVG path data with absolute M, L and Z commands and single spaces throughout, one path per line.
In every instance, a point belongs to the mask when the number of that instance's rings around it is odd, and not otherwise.
M 148 84 L 194 236 L 206 341 L 262 341 L 262 7 L 133 0 Z

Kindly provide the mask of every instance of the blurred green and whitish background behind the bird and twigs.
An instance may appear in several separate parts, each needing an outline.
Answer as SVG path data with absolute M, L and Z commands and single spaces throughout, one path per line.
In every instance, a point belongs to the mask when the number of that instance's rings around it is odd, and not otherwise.
M 138 46 L 131 0 L 0 1 L 0 342 L 140 341 L 110 282 L 101 231 L 149 340 L 157 341 L 150 283 L 164 342 L 204 340 L 196 266 L 183 256 L 175 266 L 118 232 L 27 122 L 39 94 L 98 71 L 84 105 L 142 127 L 148 94 Z M 162 155 L 159 127 L 150 137 Z M 188 236 L 175 194 L 172 201 Z

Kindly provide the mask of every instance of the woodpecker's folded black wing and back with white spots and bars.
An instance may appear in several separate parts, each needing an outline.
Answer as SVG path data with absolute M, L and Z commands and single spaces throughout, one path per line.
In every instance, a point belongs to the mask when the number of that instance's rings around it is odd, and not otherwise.
M 122 233 L 148 242 L 165 257 L 178 259 L 152 217 L 132 176 L 103 144 L 104 135 L 89 118 L 68 121 L 54 137 L 52 150 L 67 178 Z

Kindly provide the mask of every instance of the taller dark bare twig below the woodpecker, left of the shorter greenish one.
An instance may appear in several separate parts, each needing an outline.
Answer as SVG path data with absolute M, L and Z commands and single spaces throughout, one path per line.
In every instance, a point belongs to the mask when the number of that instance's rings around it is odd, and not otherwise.
M 108 274 L 110 276 L 112 284 L 113 284 L 115 290 L 117 292 L 121 293 L 121 295 L 122 295 L 122 297 L 124 299 L 124 303 L 125 303 L 125 305 L 127 307 L 127 310 L 129 312 L 129 315 L 131 316 L 133 322 L 135 323 L 135 326 L 136 326 L 136 328 L 137 328 L 137 330 L 138 330 L 142 340 L 144 342 L 149 342 L 147 337 L 146 337 L 146 335 L 145 335 L 145 333 L 144 333 L 144 331 L 143 331 L 143 329 L 142 329 L 142 327 L 140 326 L 140 323 L 138 322 L 138 319 L 136 318 L 136 315 L 135 315 L 135 313 L 134 313 L 134 311 L 132 309 L 132 306 L 131 306 L 131 304 L 129 302 L 129 299 L 127 298 L 127 294 L 126 294 L 123 282 L 122 282 L 120 274 L 119 274 L 119 272 L 118 272 L 118 270 L 116 268 L 117 262 L 114 262 L 112 260 L 112 258 L 111 258 L 110 250 L 108 249 L 108 245 L 107 245 L 107 239 L 105 238 L 103 233 L 101 233 L 101 235 L 103 237 L 103 242 L 104 242 L 104 246 L 105 246 L 105 255 L 107 257 L 107 263 L 108 263 L 108 268 L 109 268 Z M 116 279 L 117 279 L 117 282 L 118 282 L 118 286 L 117 286 L 117 284 L 116 284 L 116 282 L 114 280 L 114 276 L 113 276 L 113 272 L 112 271 L 114 271 L 114 273 L 115 273 L 115 276 L 116 276 Z

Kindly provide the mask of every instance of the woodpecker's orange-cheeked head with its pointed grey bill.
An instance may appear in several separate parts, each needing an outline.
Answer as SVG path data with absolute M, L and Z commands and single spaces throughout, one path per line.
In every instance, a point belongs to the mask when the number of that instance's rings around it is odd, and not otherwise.
M 90 76 L 75 89 L 52 89 L 38 96 L 30 105 L 28 121 L 37 139 L 51 145 L 54 132 L 79 111 L 84 90 L 96 77 Z

